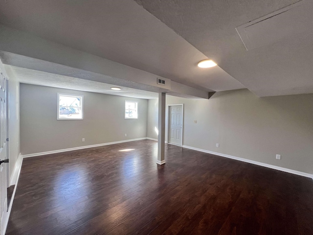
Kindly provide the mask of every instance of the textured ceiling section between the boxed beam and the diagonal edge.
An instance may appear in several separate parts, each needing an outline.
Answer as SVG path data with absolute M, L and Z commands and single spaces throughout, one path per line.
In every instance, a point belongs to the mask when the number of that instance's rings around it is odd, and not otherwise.
M 245 88 L 132 0 L 0 1 L 0 23 L 204 91 Z

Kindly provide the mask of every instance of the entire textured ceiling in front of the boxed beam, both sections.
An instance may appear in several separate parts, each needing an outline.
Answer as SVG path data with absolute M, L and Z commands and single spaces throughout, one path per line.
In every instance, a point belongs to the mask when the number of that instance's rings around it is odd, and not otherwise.
M 297 1 L 0 1 L 0 24 L 208 92 L 313 93 L 313 24 L 248 51 L 236 31 Z M 313 22 L 302 2 L 294 20 Z M 220 67 L 197 68 L 205 58 Z

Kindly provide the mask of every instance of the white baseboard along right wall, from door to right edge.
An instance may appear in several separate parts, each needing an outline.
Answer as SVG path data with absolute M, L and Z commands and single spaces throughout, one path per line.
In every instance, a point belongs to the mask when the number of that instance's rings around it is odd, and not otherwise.
M 305 172 L 301 172 L 301 171 L 297 171 L 297 170 L 291 170 L 291 169 L 280 167 L 280 166 L 276 166 L 276 165 L 270 165 L 270 164 L 266 164 L 266 163 L 261 163 L 261 162 L 257 162 L 257 161 L 253 161 L 253 160 L 249 160 L 249 159 L 245 159 L 245 158 L 238 158 L 238 157 L 234 157 L 234 156 L 231 156 L 231 155 L 227 155 L 227 154 L 223 154 L 223 153 L 217 153 L 217 152 L 212 152 L 212 151 L 209 151 L 209 150 L 200 149 L 200 148 L 194 148 L 194 147 L 190 147 L 190 146 L 186 146 L 186 145 L 182 145 L 182 147 L 189 148 L 189 149 L 192 149 L 192 150 L 197 150 L 197 151 L 204 152 L 204 153 L 214 154 L 214 155 L 225 157 L 225 158 L 235 159 L 235 160 L 238 160 L 238 161 L 241 161 L 241 162 L 245 162 L 245 163 L 261 165 L 261 166 L 265 166 L 265 167 L 268 167 L 268 168 L 271 168 L 271 169 L 285 171 L 285 172 L 288 172 L 288 173 L 291 173 L 291 174 L 301 175 L 301 176 L 309 177 L 309 178 L 313 179 L 313 174 L 309 174 L 309 173 L 305 173 Z

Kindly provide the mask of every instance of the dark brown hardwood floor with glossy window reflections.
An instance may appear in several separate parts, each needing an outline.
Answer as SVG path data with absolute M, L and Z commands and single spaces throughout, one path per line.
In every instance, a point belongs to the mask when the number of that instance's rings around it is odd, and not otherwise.
M 133 149 L 129 151 L 120 151 Z M 7 235 L 312 235 L 313 180 L 143 140 L 23 160 Z

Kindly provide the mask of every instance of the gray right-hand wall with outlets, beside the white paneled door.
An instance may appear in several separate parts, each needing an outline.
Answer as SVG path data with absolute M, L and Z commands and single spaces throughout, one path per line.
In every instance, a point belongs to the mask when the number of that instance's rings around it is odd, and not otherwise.
M 166 96 L 166 104 L 179 103 L 183 145 L 313 174 L 313 94 L 260 98 L 243 89 L 209 100 Z

